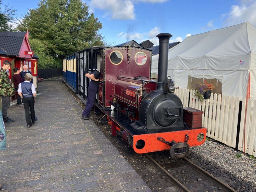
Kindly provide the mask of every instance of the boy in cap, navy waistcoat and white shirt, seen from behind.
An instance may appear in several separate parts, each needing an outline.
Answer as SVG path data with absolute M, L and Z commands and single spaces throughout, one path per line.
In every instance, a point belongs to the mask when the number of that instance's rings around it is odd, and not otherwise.
M 18 94 L 23 99 L 27 128 L 30 128 L 32 124 L 34 124 L 35 121 L 37 121 L 37 117 L 35 117 L 34 110 L 34 98 L 37 92 L 35 92 L 34 84 L 30 83 L 33 76 L 30 73 L 27 73 L 24 78 L 25 82 L 19 84 Z

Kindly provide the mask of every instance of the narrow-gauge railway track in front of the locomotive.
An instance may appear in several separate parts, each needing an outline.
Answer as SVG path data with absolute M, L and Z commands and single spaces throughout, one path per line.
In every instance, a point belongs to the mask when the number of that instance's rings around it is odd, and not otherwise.
M 236 190 L 229 185 L 209 174 L 187 158 L 159 164 L 149 154 L 145 155 L 165 172 L 183 191 L 236 192 Z

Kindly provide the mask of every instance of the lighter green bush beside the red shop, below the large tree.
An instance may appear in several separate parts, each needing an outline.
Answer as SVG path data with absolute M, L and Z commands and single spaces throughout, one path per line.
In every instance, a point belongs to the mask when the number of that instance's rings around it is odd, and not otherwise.
M 58 58 L 49 55 L 45 45 L 38 39 L 29 39 L 29 44 L 34 54 L 39 57 L 38 68 L 62 68 L 62 62 Z

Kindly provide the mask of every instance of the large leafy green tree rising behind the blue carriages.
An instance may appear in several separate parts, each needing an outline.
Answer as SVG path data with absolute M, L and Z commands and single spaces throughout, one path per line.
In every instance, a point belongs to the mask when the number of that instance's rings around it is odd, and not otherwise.
M 40 0 L 38 6 L 29 10 L 17 29 L 28 29 L 30 38 L 40 40 L 53 58 L 103 45 L 98 32 L 102 24 L 81 0 Z

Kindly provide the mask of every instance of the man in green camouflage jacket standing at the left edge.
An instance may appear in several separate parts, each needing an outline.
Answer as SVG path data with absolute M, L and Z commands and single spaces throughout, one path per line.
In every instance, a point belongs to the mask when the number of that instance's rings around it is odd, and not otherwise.
M 6 123 L 14 122 L 7 117 L 7 110 L 10 107 L 10 97 L 15 94 L 15 89 L 8 77 L 6 70 L 10 70 L 12 63 L 8 60 L 3 62 L 3 67 L 0 69 L 0 97 L 2 100 L 3 121 Z

